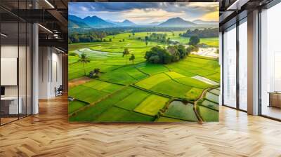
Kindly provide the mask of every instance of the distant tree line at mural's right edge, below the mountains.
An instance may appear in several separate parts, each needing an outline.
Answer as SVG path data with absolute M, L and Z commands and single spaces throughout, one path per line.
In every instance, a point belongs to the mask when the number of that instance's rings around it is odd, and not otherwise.
M 218 37 L 218 28 L 205 28 L 205 29 L 188 29 L 185 33 L 180 34 L 183 37 L 198 36 L 200 38 Z

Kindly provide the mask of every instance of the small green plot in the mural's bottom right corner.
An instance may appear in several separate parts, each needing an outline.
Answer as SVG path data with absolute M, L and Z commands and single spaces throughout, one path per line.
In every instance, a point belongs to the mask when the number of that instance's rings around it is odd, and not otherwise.
M 200 105 L 197 106 L 197 111 L 199 112 L 203 121 L 218 121 L 218 111 L 214 111 Z

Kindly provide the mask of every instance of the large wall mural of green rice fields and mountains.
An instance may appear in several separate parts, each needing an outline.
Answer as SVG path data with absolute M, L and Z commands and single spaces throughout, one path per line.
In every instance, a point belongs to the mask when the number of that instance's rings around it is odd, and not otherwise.
M 69 3 L 69 120 L 218 121 L 218 3 Z

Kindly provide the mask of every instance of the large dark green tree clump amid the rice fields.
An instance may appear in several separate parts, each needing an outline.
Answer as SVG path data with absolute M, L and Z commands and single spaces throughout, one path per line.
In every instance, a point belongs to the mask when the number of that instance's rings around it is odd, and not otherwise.
M 197 50 L 196 48 L 195 46 L 185 48 L 183 45 L 168 46 L 167 48 L 155 46 L 145 53 L 145 59 L 147 62 L 155 64 L 169 64 L 185 58 L 190 52 Z

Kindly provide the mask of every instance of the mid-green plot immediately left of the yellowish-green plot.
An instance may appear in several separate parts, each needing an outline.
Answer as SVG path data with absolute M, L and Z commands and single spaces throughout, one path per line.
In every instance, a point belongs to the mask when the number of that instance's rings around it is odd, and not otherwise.
M 124 98 L 124 100 L 121 100 L 120 102 L 115 104 L 115 106 L 121 107 L 123 109 L 133 110 L 149 95 L 150 93 L 144 92 L 142 90 L 137 90 L 131 95 L 128 95 L 128 97 Z

